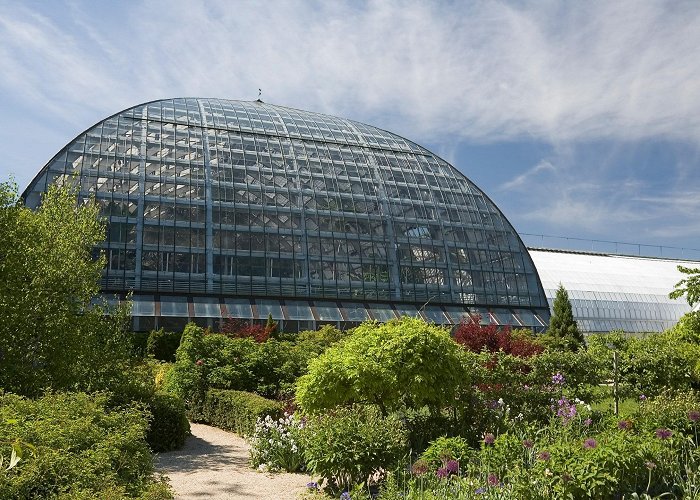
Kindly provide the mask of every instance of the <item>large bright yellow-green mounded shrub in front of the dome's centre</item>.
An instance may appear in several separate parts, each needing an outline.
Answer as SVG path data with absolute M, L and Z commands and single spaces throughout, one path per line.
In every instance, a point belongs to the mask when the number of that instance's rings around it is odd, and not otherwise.
M 468 384 L 462 350 L 440 327 L 404 317 L 366 322 L 311 361 L 297 383 L 305 411 L 372 403 L 386 414 L 403 406 L 440 408 Z

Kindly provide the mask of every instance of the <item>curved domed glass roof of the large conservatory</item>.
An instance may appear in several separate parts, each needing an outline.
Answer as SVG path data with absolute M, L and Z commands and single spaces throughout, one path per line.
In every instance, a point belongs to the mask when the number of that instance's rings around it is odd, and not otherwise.
M 105 291 L 548 317 L 494 203 L 425 148 L 351 120 L 261 101 L 150 102 L 70 142 L 27 204 L 52 182 L 79 184 L 109 218 Z

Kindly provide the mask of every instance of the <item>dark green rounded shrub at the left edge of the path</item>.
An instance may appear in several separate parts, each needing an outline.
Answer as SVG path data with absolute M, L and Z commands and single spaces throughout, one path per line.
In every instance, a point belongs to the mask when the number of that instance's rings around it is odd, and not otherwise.
M 148 401 L 151 412 L 146 441 L 153 451 L 171 451 L 181 448 L 190 434 L 190 423 L 185 415 L 185 404 L 173 395 L 155 393 Z

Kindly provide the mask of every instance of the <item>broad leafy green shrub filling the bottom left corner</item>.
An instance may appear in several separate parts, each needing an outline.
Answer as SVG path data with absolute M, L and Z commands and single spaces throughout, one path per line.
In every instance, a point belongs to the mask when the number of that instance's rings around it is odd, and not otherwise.
M 147 427 L 142 407 L 109 409 L 101 395 L 0 396 L 0 436 L 36 447 L 0 470 L 0 498 L 172 498 L 154 480 Z

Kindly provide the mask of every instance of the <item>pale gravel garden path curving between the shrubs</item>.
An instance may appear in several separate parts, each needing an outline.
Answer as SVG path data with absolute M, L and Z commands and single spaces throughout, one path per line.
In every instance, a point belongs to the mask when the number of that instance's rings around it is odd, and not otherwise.
M 295 500 L 311 478 L 269 474 L 248 466 L 248 443 L 237 434 L 191 424 L 192 435 L 177 451 L 160 453 L 156 470 L 170 478 L 178 499 Z

